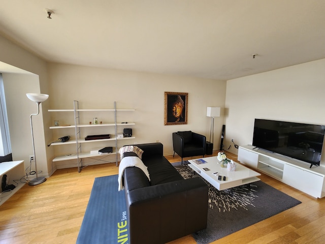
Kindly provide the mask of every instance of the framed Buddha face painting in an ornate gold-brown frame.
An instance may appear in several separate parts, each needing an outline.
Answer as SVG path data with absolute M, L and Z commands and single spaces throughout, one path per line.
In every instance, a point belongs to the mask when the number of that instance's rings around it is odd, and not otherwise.
M 165 126 L 187 125 L 188 93 L 165 92 Z

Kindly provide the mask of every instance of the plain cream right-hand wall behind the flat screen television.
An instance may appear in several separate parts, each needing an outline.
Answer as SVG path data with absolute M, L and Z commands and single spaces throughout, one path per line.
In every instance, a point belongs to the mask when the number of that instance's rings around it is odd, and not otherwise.
M 320 59 L 229 80 L 225 143 L 252 144 L 255 118 L 325 125 L 324 67 L 325 59 Z M 237 154 L 234 146 L 230 151 Z

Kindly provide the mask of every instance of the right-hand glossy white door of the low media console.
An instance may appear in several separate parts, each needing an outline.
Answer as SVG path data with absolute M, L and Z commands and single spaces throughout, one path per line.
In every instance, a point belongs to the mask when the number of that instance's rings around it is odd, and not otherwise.
M 324 177 L 318 174 L 292 165 L 284 165 L 283 182 L 313 197 L 322 197 L 323 181 Z

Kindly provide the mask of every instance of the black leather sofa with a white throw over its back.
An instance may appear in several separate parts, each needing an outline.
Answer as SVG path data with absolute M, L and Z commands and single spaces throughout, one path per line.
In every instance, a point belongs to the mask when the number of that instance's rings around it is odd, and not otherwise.
M 205 229 L 208 186 L 199 177 L 183 179 L 163 156 L 163 144 L 137 144 L 150 181 L 137 167 L 125 168 L 124 192 L 129 243 L 166 243 Z

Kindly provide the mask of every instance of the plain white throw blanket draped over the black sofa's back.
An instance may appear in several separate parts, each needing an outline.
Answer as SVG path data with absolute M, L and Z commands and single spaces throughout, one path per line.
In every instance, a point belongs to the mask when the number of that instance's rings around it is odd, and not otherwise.
M 120 166 L 118 169 L 118 190 L 122 191 L 124 189 L 122 178 L 123 178 L 123 172 L 126 167 L 138 167 L 141 169 L 145 175 L 150 180 L 149 172 L 147 166 L 144 165 L 144 163 L 139 159 L 138 157 L 125 157 L 121 160 Z

